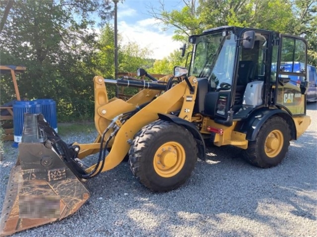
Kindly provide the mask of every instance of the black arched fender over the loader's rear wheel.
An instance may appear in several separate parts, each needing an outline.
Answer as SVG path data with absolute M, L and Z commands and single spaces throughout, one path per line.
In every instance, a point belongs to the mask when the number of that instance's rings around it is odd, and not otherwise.
M 247 134 L 246 139 L 248 141 L 255 141 L 262 125 L 272 116 L 282 117 L 291 127 L 291 139 L 296 139 L 294 120 L 288 112 L 281 109 L 260 108 L 255 110 L 246 121 L 240 124 L 240 128 L 237 128 L 237 131 Z

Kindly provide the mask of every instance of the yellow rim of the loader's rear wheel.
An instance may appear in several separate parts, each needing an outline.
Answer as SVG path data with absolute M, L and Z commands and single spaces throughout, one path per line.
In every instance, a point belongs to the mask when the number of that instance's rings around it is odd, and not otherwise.
M 281 131 L 273 130 L 269 133 L 265 140 L 265 153 L 268 157 L 273 158 L 277 156 L 283 147 L 284 136 Z

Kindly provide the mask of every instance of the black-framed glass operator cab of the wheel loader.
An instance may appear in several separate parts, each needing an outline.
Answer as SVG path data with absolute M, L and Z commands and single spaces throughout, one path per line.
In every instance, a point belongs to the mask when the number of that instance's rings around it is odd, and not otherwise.
M 224 26 L 191 36 L 190 43 L 193 50 L 189 75 L 198 81 L 194 112 L 226 126 L 234 120 L 248 118 L 261 107 L 279 106 L 291 113 L 305 113 L 294 106 L 300 104 L 305 110 L 301 99 L 306 93 L 306 72 L 276 69 L 286 59 L 294 62 L 300 58 L 306 64 L 303 39 L 266 30 Z M 293 74 L 300 77 L 297 87 L 287 81 Z M 293 100 L 287 102 L 284 97 Z

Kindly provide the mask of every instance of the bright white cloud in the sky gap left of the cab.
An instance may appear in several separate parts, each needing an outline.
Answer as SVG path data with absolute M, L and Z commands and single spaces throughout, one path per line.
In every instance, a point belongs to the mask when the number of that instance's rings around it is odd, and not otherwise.
M 172 40 L 172 35 L 160 30 L 158 21 L 148 18 L 127 24 L 125 21 L 118 22 L 118 32 L 123 38 L 123 44 L 136 42 L 142 48 L 148 48 L 155 59 L 168 56 L 175 49 L 182 46 L 181 42 Z

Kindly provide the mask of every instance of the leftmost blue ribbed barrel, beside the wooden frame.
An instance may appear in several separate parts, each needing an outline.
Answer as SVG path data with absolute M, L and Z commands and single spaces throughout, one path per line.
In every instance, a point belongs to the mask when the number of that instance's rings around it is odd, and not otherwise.
M 42 105 L 37 101 L 15 101 L 13 104 L 13 136 L 14 142 L 13 147 L 17 147 L 18 143 L 21 142 L 23 124 L 24 124 L 24 113 L 38 114 L 42 113 Z

